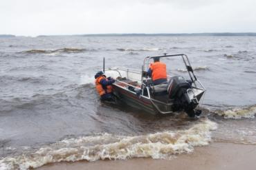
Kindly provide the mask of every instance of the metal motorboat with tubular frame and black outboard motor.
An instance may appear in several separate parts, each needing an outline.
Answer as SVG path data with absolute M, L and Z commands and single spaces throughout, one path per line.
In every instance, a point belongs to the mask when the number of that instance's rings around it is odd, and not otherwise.
M 167 76 L 165 83 L 154 85 L 152 78 L 145 74 L 149 62 L 155 58 L 171 57 L 181 57 L 190 79 L 186 80 L 180 75 Z M 190 117 L 201 114 L 197 107 L 203 100 L 205 88 L 196 78 L 185 54 L 146 56 L 141 70 L 109 68 L 104 69 L 104 74 L 116 79 L 113 83 L 114 96 L 131 107 L 143 109 L 151 114 L 172 114 L 174 111 L 185 111 Z

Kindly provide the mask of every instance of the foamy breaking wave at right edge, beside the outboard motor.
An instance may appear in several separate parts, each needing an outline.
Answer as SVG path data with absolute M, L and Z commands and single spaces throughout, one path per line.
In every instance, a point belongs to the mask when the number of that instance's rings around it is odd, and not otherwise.
M 217 110 L 214 111 L 215 114 L 219 116 L 223 116 L 224 118 L 255 118 L 256 114 L 256 105 L 252 105 L 249 107 L 234 107 L 227 110 Z

